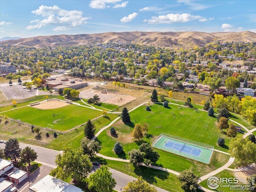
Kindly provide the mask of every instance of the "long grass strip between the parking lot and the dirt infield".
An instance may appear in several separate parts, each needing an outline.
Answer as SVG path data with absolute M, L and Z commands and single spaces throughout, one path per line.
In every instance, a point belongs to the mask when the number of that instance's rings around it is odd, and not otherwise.
M 4 107 L 1 107 L 1 110 L 0 110 L 0 113 L 5 113 L 5 111 L 7 110 L 11 110 L 11 109 L 15 109 L 15 108 L 18 108 L 18 107 L 22 107 L 22 106 L 26 106 L 26 105 L 29 105 L 31 102 L 35 102 L 35 101 L 43 101 L 43 100 L 46 100 L 46 99 L 53 99 L 53 98 L 57 98 L 57 99 L 61 99 L 61 100 L 64 100 L 64 97 L 63 96 L 60 96 L 60 95 L 48 95 L 48 98 L 46 98 L 45 95 L 38 95 L 38 96 L 33 96 L 33 97 L 30 97 L 30 98 L 25 98 L 25 99 L 21 99 L 21 100 L 16 100 L 17 104 L 15 106 L 13 106 L 12 104 L 12 101 L 13 100 L 8 100 L 9 105 L 8 106 L 4 106 Z M 3 103 L 1 102 L 1 105 Z

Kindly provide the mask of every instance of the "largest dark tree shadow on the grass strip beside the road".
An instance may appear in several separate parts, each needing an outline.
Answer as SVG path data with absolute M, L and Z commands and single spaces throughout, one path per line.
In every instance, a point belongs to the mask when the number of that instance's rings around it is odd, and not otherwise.
M 142 178 L 150 184 L 157 183 L 156 178 L 159 178 L 160 180 L 166 180 L 169 176 L 169 173 L 166 171 L 156 170 L 144 166 L 135 167 L 134 173 L 138 176 L 142 176 Z

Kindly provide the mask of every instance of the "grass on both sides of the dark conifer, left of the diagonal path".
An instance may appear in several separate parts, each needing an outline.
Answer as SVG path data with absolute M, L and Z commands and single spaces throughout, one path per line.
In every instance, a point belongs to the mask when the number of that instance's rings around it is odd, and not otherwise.
M 118 115 L 108 114 L 107 118 L 102 116 L 97 120 L 94 120 L 93 123 L 96 128 L 95 133 L 97 133 L 104 126 L 107 126 L 116 117 L 118 117 Z M 74 129 L 65 134 L 58 135 L 56 139 L 52 140 L 45 147 L 54 149 L 54 150 L 63 150 L 64 147 L 68 147 L 68 146 L 73 148 L 78 148 L 80 147 L 80 142 L 82 138 L 84 138 L 84 126 L 80 126 L 79 128 Z

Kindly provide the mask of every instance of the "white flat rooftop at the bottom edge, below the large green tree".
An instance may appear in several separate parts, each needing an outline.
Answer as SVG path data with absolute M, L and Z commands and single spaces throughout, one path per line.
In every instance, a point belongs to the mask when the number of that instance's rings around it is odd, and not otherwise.
M 30 186 L 29 190 L 32 192 L 82 192 L 82 189 L 50 175 L 46 175 Z

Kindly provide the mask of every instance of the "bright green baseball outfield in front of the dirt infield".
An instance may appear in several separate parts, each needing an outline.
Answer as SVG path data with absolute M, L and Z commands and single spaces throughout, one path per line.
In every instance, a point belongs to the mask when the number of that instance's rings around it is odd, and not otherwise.
M 69 130 L 75 126 L 83 124 L 88 119 L 93 119 L 101 115 L 101 111 L 70 104 L 68 106 L 40 110 L 25 106 L 5 112 L 7 116 L 14 119 L 20 119 L 36 126 L 47 127 L 48 124 L 54 125 L 55 130 Z M 55 116 L 53 116 L 55 114 Z

